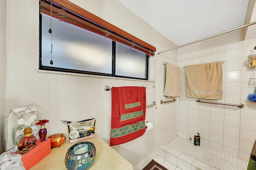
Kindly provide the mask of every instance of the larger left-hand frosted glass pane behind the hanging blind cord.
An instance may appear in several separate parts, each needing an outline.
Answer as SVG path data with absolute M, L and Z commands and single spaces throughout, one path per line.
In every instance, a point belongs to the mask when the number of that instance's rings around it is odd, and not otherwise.
M 112 74 L 112 40 L 56 19 L 52 35 L 49 28 L 50 17 L 42 15 L 42 66 Z

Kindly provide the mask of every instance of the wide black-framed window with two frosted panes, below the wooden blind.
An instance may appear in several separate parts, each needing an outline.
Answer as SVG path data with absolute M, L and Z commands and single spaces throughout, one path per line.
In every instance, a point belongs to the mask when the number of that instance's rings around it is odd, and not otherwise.
M 40 70 L 148 80 L 147 54 L 56 18 L 50 34 L 50 16 L 40 16 Z

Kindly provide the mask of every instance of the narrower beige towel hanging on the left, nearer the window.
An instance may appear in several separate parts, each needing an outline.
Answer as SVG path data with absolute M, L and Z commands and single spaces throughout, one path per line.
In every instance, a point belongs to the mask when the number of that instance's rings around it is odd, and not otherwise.
M 166 64 L 164 96 L 180 96 L 180 68 L 171 63 Z

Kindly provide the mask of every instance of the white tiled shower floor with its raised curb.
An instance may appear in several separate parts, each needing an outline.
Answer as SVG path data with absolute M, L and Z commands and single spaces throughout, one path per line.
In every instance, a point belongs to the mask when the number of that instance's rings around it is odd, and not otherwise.
M 248 166 L 248 162 L 244 160 L 202 145 L 194 146 L 188 140 L 178 136 L 167 145 L 160 146 L 158 155 L 156 160 L 164 159 L 162 164 L 174 165 L 171 166 L 173 170 L 191 170 L 193 167 L 195 170 L 246 170 Z

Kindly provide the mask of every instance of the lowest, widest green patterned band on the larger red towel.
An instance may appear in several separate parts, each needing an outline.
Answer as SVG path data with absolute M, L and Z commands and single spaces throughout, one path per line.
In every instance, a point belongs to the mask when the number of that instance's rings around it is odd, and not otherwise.
M 139 131 L 140 129 L 143 129 L 145 127 L 145 121 L 140 121 L 133 125 L 126 125 L 124 127 L 111 129 L 110 137 L 123 137 L 125 135 L 128 135 L 130 133 L 134 133 L 136 131 Z

